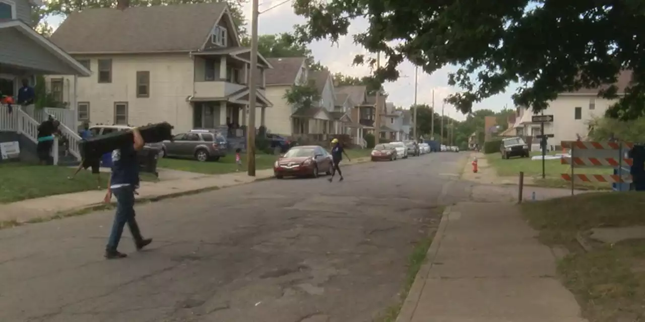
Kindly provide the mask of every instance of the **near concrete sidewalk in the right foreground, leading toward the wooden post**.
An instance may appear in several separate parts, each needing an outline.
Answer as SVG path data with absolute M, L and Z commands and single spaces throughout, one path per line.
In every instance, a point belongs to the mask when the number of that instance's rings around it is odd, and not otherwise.
M 444 213 L 397 322 L 584 322 L 555 256 L 508 203 Z

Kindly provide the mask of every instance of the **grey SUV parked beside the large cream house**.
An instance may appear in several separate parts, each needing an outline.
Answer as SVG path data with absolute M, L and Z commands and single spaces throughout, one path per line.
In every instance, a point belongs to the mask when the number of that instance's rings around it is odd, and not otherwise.
M 164 156 L 195 158 L 199 162 L 217 161 L 226 156 L 226 139 L 219 133 L 208 130 L 179 133 L 172 141 L 162 143 Z

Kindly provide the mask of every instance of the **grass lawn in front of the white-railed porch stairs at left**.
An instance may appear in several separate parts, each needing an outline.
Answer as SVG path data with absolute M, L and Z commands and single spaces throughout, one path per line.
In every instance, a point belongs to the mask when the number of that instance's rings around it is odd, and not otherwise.
M 0 204 L 98 189 L 96 177 L 92 175 L 92 171 L 81 171 L 74 180 L 69 180 L 67 177 L 74 171 L 75 169 L 69 167 L 35 166 L 17 162 L 1 163 Z M 106 189 L 108 176 L 108 173 L 101 173 L 101 189 Z M 154 176 L 142 173 L 141 180 L 154 180 Z

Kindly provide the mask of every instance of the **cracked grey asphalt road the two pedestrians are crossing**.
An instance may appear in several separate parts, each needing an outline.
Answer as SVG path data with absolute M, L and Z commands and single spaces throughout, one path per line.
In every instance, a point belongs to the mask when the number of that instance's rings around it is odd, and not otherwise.
M 372 321 L 396 303 L 439 205 L 469 198 L 466 153 L 346 166 L 139 205 L 104 260 L 111 211 L 0 231 L 0 321 Z

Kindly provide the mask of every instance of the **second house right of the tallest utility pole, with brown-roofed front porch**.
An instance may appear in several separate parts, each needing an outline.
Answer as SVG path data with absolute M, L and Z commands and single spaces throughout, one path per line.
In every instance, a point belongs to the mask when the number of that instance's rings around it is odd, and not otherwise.
M 320 99 L 312 106 L 299 107 L 293 112 L 293 136 L 326 140 L 328 135 L 338 134 L 339 120 L 332 115 L 336 102 L 332 74 L 328 70 L 308 71 L 308 81 Z

